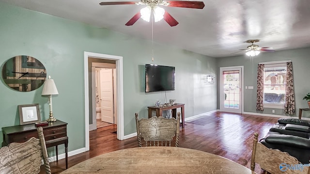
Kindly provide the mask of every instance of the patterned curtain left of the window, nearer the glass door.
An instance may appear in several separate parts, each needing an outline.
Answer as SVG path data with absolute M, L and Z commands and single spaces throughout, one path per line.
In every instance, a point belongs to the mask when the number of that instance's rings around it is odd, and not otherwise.
M 258 64 L 257 68 L 257 97 L 256 110 L 263 111 L 263 72 L 264 64 Z

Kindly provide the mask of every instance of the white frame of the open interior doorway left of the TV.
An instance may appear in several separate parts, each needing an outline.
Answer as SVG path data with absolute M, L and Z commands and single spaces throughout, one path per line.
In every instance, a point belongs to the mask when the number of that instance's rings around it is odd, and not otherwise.
M 116 61 L 116 91 L 117 91 L 117 139 L 124 140 L 124 88 L 123 88 L 123 57 L 92 53 L 84 51 L 84 98 L 85 98 L 85 150 L 89 151 L 89 88 L 88 88 L 88 57 Z

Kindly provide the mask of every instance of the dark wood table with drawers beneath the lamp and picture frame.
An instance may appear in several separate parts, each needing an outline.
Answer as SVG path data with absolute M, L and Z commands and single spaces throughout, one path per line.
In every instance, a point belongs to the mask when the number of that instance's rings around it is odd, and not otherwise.
M 47 147 L 56 146 L 56 161 L 58 161 L 58 145 L 64 144 L 66 156 L 66 169 L 68 168 L 68 137 L 67 124 L 57 120 L 48 123 L 47 126 L 42 126 L 45 144 Z M 22 143 L 29 140 L 31 137 L 38 138 L 37 127 L 33 124 L 16 125 L 2 128 L 3 142 L 2 146 L 10 143 Z

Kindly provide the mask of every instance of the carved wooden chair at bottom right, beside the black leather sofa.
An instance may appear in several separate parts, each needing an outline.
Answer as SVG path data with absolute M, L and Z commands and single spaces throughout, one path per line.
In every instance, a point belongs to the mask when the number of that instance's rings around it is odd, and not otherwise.
M 254 133 L 252 171 L 256 163 L 265 171 L 265 174 L 310 174 L 309 164 L 301 164 L 286 152 L 264 146 L 258 142 L 258 133 Z

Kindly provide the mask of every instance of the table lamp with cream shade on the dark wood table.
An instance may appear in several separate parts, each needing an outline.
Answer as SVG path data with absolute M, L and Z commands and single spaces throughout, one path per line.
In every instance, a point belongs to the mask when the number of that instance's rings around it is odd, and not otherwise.
M 45 80 L 42 95 L 48 95 L 48 103 L 49 103 L 49 118 L 47 119 L 48 122 L 54 122 L 56 121 L 56 118 L 53 116 L 53 106 L 52 106 L 52 95 L 58 94 L 56 85 L 54 83 L 53 79 L 50 79 L 50 76 L 48 76 L 48 79 Z

